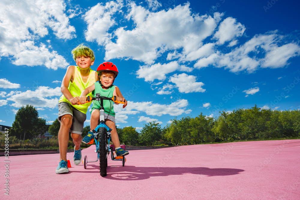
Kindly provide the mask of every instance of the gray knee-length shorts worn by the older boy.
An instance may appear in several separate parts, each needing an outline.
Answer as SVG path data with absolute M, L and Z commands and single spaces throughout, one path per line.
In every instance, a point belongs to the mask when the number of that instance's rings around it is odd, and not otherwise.
M 70 128 L 71 133 L 81 135 L 83 130 L 83 123 L 86 119 L 86 114 L 80 112 L 72 105 L 66 102 L 58 103 L 58 121 L 61 122 L 63 115 L 72 115 L 72 125 Z

